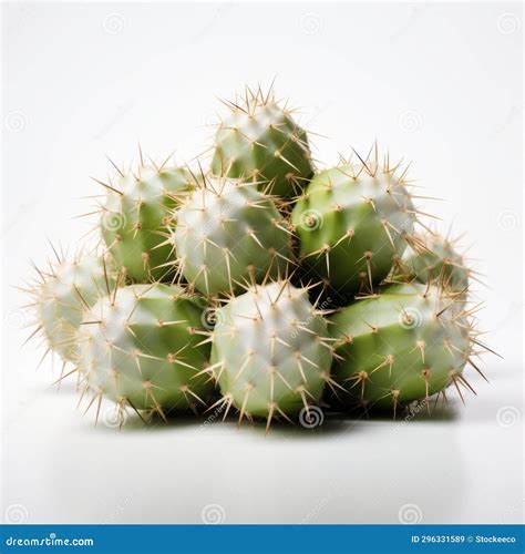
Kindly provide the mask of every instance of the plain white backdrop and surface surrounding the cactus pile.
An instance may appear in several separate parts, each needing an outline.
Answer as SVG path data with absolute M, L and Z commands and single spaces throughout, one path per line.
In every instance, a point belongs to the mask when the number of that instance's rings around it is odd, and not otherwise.
M 3 454 L 7 521 L 518 522 L 523 515 L 522 7 L 14 3 L 3 7 Z M 219 98 L 269 85 L 300 105 L 323 164 L 374 138 L 413 160 L 424 204 L 485 275 L 491 384 L 433 418 L 334 420 L 267 437 L 234 421 L 123 431 L 75 411 L 20 330 L 13 286 L 45 235 L 90 228 L 105 154 L 189 160 Z M 320 164 L 321 165 L 321 164 Z M 55 377 L 56 377 L 55 368 Z M 104 412 L 105 408 L 103 409 Z M 105 413 L 105 412 L 104 412 Z M 107 418 L 106 418 L 107 419 Z M 214 506 L 216 504 L 217 506 Z M 204 515 L 203 515 L 204 513 Z

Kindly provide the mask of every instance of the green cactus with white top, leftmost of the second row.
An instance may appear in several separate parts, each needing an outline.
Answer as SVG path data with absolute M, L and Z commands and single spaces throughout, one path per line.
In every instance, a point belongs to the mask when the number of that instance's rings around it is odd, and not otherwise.
M 116 166 L 115 166 L 116 167 Z M 144 165 L 124 173 L 117 183 L 100 182 L 107 191 L 103 206 L 102 236 L 115 263 L 137 283 L 168 280 L 175 259 L 168 227 L 172 211 L 195 185 L 182 167 Z

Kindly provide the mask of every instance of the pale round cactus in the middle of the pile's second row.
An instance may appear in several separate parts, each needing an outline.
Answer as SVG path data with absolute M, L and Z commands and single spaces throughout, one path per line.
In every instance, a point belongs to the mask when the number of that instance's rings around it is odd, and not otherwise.
M 289 235 L 271 197 L 256 183 L 206 177 L 176 212 L 173 242 L 189 286 L 216 296 L 285 273 Z

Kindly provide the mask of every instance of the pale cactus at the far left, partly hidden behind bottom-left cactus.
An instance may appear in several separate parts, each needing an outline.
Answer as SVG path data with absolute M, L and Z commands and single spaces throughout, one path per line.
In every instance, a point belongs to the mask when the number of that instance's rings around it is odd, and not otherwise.
M 48 349 L 64 362 L 74 361 L 83 312 L 115 287 L 117 276 L 105 257 L 79 254 L 68 261 L 54 252 L 56 261 L 44 269 L 37 268 L 37 285 L 29 290 L 37 316 L 32 336 L 43 336 Z

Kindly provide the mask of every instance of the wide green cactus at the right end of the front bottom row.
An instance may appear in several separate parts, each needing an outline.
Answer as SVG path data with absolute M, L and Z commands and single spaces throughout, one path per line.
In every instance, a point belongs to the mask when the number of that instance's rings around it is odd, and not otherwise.
M 478 370 L 474 347 L 483 345 L 469 311 L 454 312 L 454 301 L 435 285 L 392 285 L 331 316 L 341 357 L 332 373 L 348 400 L 395 414 L 434 393 L 445 397 L 450 384 L 461 397 L 462 388 L 473 391 L 463 368 L 470 362 Z

